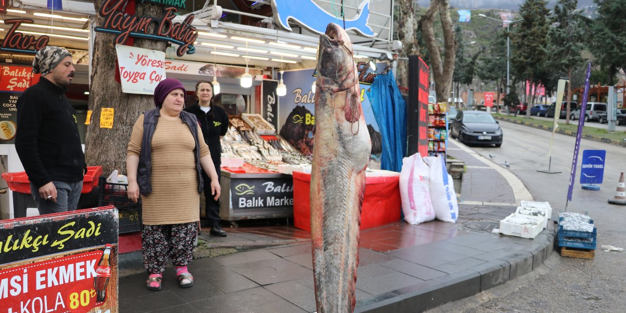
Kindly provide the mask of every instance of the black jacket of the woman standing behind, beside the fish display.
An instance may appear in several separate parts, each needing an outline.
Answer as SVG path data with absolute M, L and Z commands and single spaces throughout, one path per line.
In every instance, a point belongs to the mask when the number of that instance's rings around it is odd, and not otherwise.
M 207 143 L 208 150 L 211 151 L 211 158 L 213 159 L 215 169 L 219 170 L 220 165 L 222 165 L 222 145 L 220 144 L 220 136 L 226 135 L 228 131 L 228 115 L 226 115 L 226 111 L 217 105 L 212 105 L 211 111 L 204 113 L 204 111 L 200 109 L 198 102 L 196 102 L 195 105 L 188 106 L 184 111 L 192 113 L 198 118 L 198 121 L 200 121 L 204 142 Z

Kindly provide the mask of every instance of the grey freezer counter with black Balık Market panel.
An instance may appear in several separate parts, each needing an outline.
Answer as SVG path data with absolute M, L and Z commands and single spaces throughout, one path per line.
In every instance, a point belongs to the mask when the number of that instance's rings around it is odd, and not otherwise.
M 222 169 L 220 218 L 227 221 L 294 216 L 294 182 L 282 173 Z

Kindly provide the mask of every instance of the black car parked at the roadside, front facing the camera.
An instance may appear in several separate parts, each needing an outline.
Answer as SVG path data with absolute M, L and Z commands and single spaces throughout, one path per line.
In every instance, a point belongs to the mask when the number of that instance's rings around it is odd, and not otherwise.
M 452 121 L 450 134 L 462 143 L 502 145 L 502 129 L 485 111 L 460 111 Z

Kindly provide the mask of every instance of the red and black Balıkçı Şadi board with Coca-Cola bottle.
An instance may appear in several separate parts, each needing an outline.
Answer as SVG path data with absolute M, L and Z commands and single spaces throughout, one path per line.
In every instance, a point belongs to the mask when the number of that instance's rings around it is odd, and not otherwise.
M 0 312 L 117 313 L 118 210 L 0 220 Z

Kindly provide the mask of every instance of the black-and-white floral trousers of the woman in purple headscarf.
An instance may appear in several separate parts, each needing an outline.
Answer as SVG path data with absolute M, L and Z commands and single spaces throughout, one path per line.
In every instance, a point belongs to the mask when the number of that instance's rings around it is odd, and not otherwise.
M 174 266 L 189 264 L 193 259 L 193 242 L 197 234 L 198 222 L 143 225 L 141 230 L 143 267 L 151 274 L 162 273 L 170 256 Z

